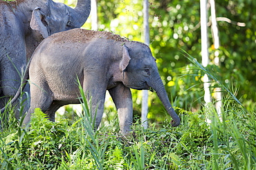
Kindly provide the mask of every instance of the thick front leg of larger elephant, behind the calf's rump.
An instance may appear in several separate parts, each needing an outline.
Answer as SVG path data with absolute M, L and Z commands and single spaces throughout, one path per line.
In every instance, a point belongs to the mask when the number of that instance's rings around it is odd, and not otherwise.
M 8 50 L 3 52 L 5 53 L 4 58 L 1 59 L 1 107 L 5 106 L 8 100 L 17 93 L 21 85 L 22 74 L 24 74 L 26 69 L 26 47 L 22 39 L 13 44 L 12 48 L 13 49 L 8 49 L 10 52 L 8 52 Z M 26 95 L 24 94 L 22 96 L 21 101 L 26 105 L 24 108 L 24 112 L 26 112 L 29 107 L 29 101 L 26 100 L 28 98 L 27 96 L 29 96 L 29 86 L 25 88 L 24 92 L 26 92 Z M 20 104 L 19 100 L 13 105 L 17 104 Z M 21 113 L 16 109 L 15 117 L 19 118 L 20 114 Z

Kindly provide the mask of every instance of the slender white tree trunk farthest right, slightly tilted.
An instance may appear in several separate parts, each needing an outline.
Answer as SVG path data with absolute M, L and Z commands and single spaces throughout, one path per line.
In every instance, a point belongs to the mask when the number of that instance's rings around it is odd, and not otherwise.
M 217 50 L 219 49 L 219 30 L 217 27 L 217 20 L 216 20 L 216 12 L 215 12 L 215 2 L 214 0 L 210 0 L 210 12 L 211 12 L 211 20 L 212 20 L 212 37 L 214 42 L 214 48 Z M 219 62 L 219 51 L 214 52 L 214 63 L 220 67 Z M 216 102 L 216 109 L 219 116 L 221 116 L 221 87 L 215 88 L 214 97 L 217 100 Z

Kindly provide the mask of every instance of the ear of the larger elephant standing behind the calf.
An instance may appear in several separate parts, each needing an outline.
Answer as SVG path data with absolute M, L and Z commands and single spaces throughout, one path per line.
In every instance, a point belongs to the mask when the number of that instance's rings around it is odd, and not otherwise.
M 35 10 L 33 10 L 32 12 L 30 28 L 39 31 L 40 34 L 42 34 L 42 36 L 44 37 L 44 39 L 46 39 L 49 36 L 47 22 L 39 7 L 35 8 Z

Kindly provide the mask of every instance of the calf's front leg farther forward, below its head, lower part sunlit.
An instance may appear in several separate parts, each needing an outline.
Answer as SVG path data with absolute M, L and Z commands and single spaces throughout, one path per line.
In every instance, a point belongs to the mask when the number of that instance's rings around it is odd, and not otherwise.
M 109 94 L 113 98 L 113 102 L 118 110 L 118 118 L 120 125 L 120 132 L 127 134 L 131 131 L 133 118 L 133 103 L 131 99 L 131 90 L 125 85 L 118 85 L 113 89 L 109 89 Z

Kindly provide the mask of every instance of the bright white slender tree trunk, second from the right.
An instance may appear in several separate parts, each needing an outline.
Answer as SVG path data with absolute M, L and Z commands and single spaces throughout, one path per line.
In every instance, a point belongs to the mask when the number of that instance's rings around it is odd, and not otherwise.
M 206 67 L 209 63 L 208 54 L 208 32 L 207 32 L 207 0 L 200 0 L 200 16 L 201 16 L 201 55 L 202 55 L 202 65 Z M 204 100 L 205 104 L 211 103 L 210 97 L 210 82 L 208 75 L 203 76 L 203 89 L 205 91 Z

